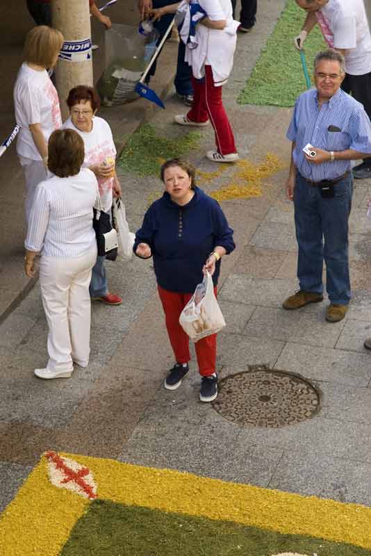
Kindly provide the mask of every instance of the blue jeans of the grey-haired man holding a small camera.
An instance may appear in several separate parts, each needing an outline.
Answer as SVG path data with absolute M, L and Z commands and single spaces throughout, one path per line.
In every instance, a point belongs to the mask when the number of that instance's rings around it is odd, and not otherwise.
M 321 293 L 323 261 L 329 300 L 347 305 L 350 301 L 348 219 L 352 208 L 353 178 L 347 176 L 334 186 L 335 197 L 325 199 L 320 188 L 308 183 L 299 172 L 295 181 L 295 229 L 299 253 L 297 277 L 302 291 Z

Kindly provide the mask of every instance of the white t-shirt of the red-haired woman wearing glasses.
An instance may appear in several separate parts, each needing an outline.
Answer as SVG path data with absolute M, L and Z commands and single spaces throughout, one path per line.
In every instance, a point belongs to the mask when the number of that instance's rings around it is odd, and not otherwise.
M 106 158 L 113 158 L 114 160 L 116 158 L 116 148 L 113 142 L 112 131 L 110 131 L 110 126 L 106 120 L 94 116 L 92 124 L 92 131 L 80 131 L 72 124 L 72 120 L 69 117 L 62 126 L 63 129 L 74 129 L 83 138 L 85 146 L 83 167 L 86 168 L 94 164 L 100 164 L 104 162 Z M 109 212 L 113 203 L 113 180 L 113 178 L 98 178 L 101 206 L 104 212 Z

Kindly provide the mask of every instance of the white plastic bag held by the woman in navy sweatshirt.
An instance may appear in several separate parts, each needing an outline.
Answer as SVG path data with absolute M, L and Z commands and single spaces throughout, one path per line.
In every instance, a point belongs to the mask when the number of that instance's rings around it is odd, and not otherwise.
M 204 281 L 198 284 L 195 293 L 181 312 L 179 324 L 195 342 L 216 334 L 226 325 L 214 294 L 210 272 L 206 272 Z

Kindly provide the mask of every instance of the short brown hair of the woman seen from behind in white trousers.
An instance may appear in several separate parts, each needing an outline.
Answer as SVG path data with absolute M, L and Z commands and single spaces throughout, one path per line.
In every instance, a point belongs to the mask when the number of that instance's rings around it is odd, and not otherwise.
M 79 174 L 85 158 L 83 138 L 74 129 L 57 129 L 48 142 L 48 168 L 60 178 Z

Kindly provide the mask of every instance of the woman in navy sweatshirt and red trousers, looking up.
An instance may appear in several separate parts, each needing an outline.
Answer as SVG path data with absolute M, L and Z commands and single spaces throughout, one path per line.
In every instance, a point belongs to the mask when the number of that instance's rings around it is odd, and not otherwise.
M 165 378 L 176 390 L 188 373 L 189 338 L 179 324 L 181 311 L 208 270 L 216 293 L 220 259 L 235 248 L 233 230 L 220 205 L 195 186 L 195 169 L 173 158 L 161 167 L 163 197 L 149 207 L 137 231 L 133 250 L 142 259 L 154 257 L 158 294 L 165 312 L 175 364 Z M 195 343 L 201 375 L 201 402 L 217 397 L 216 334 Z

